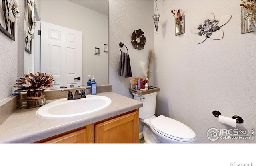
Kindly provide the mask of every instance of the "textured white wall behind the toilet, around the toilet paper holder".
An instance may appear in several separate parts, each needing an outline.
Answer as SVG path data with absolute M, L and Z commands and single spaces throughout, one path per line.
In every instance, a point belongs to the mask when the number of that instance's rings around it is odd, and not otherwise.
M 250 140 L 217 140 L 206 137 L 208 129 L 233 129 L 218 122 L 212 111 L 223 116 L 239 115 L 237 129 L 256 127 L 256 33 L 241 34 L 240 1 L 158 1 L 159 33 L 154 35 L 157 115 L 163 114 L 191 127 L 198 143 L 255 143 Z M 174 35 L 171 9 L 182 8 L 185 33 Z M 215 18 L 232 15 L 221 27 L 221 40 L 195 44 L 192 25 L 213 12 Z

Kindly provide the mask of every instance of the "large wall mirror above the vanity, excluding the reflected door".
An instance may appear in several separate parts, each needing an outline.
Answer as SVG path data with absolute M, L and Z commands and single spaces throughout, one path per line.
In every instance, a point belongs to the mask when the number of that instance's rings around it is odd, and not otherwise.
M 104 50 L 108 45 L 108 0 L 35 0 L 34 10 L 34 42 L 31 54 L 24 51 L 24 73 L 44 72 L 40 55 L 47 50 L 41 49 L 42 21 L 82 32 L 82 82 L 74 87 L 87 86 L 88 75 L 95 75 L 97 85 L 108 84 L 108 52 L 95 55 L 95 47 Z M 55 88 L 60 86 L 70 87 L 62 84 Z

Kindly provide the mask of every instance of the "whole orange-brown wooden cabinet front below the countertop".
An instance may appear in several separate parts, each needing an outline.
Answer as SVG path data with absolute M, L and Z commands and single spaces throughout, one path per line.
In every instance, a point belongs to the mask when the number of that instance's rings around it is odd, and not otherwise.
M 139 111 L 136 109 L 36 143 L 139 143 Z

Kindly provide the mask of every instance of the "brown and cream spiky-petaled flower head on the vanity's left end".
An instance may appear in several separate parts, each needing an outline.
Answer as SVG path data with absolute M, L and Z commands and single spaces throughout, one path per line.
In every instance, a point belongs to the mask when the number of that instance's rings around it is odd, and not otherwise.
M 54 79 L 52 75 L 46 73 L 30 73 L 21 76 L 16 80 L 14 87 L 17 88 L 15 92 L 47 90 L 53 87 Z

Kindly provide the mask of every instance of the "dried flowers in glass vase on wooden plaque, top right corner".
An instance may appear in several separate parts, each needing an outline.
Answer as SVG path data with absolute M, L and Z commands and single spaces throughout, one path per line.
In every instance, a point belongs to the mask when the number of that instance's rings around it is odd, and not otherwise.
M 248 20 L 248 30 L 256 28 L 256 0 L 242 0 L 242 9 L 247 9 L 245 19 Z

